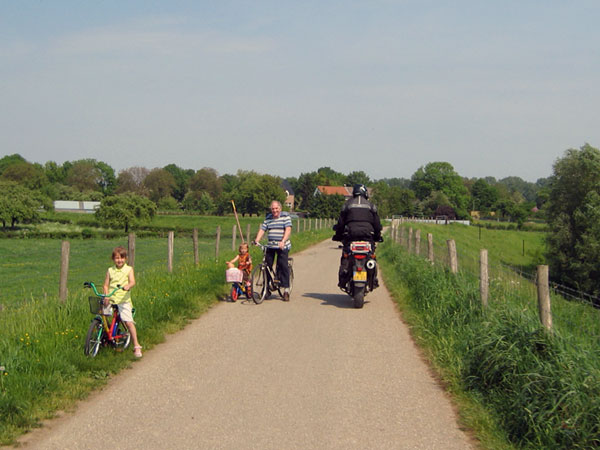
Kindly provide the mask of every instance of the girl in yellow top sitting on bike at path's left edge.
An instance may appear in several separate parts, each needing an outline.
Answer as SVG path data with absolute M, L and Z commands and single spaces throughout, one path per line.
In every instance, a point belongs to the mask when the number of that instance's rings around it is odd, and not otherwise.
M 104 299 L 104 306 L 108 306 L 109 303 L 118 306 L 121 320 L 129 329 L 129 333 L 133 339 L 133 354 L 137 358 L 141 358 L 142 346 L 137 340 L 137 331 L 135 329 L 135 322 L 133 321 L 133 303 L 131 302 L 131 293 L 129 292 L 135 286 L 133 267 L 127 265 L 127 250 L 123 247 L 115 247 L 112 260 L 115 265 L 109 267 L 106 271 L 103 286 L 104 294 L 112 292 L 117 285 L 120 285 L 121 289 L 116 291 L 112 297 L 106 297 Z

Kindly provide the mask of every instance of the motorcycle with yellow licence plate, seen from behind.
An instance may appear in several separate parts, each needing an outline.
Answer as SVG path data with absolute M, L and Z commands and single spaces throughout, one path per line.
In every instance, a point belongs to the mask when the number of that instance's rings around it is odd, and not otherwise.
M 368 241 L 353 241 L 348 247 L 347 257 L 351 258 L 349 269 L 352 276 L 344 290 L 354 300 L 354 307 L 362 308 L 365 295 L 378 287 L 375 245 Z

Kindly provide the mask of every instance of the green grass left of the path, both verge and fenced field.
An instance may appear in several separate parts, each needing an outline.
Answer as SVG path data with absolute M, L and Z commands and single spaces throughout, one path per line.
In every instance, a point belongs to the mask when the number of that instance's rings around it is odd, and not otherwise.
M 328 229 L 293 234 L 292 253 L 331 235 Z M 103 281 L 117 244 L 126 241 L 71 241 L 69 296 L 63 303 L 57 298 L 60 240 L 0 239 L 2 298 L 8 305 L 0 311 L 0 445 L 13 443 L 57 410 L 72 407 L 135 360 L 131 351 L 110 348 L 95 358 L 83 354 L 93 316 L 87 302 L 90 291 L 82 284 Z M 196 267 L 191 239 L 176 237 L 169 274 L 167 240 L 136 239 L 132 296 L 145 352 L 225 297 L 229 285 L 224 261 L 236 252 L 230 240 L 221 248 L 216 262 L 214 242 L 204 242 L 205 257 Z M 260 250 L 253 248 L 252 254 L 260 261 Z

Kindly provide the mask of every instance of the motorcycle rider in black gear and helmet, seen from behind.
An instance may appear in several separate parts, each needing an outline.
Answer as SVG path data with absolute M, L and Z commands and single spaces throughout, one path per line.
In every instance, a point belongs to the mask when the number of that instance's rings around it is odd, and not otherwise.
M 364 184 L 355 184 L 352 189 L 352 198 L 346 201 L 340 212 L 337 224 L 333 226 L 335 235 L 332 240 L 343 244 L 342 258 L 338 273 L 338 286 L 345 290 L 352 273 L 350 272 L 351 259 L 350 242 L 368 241 L 375 251 L 375 242 L 383 242 L 381 237 L 381 221 L 377 214 L 377 207 L 369 200 L 369 193 Z M 377 287 L 377 272 L 373 287 Z

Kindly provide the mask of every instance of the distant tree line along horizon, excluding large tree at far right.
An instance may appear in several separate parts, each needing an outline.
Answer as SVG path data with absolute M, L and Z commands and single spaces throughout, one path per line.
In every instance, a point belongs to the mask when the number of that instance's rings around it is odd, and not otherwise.
M 481 217 L 517 223 L 543 209 L 549 195 L 548 179 L 535 183 L 519 177 L 469 179 L 461 177 L 447 162 L 420 167 L 410 179 L 373 180 L 363 171 L 343 174 L 321 167 L 285 181 L 295 193 L 294 211 L 313 217 L 335 217 L 344 201 L 342 196 L 315 195 L 319 185 L 365 184 L 371 188 L 383 217 L 444 215 L 467 219 L 471 211 L 478 211 Z M 48 208 L 53 200 L 106 201 L 109 197 L 134 196 L 134 202 L 150 210 L 207 215 L 230 212 L 231 200 L 243 215 L 262 214 L 271 199 L 285 200 L 280 177 L 254 171 L 219 175 L 209 167 L 193 170 L 169 164 L 153 169 L 130 167 L 116 174 L 109 164 L 95 159 L 63 164 L 48 161 L 42 165 L 18 154 L 0 159 L 0 183 L 18 199 L 0 210 L 4 226 L 31 220 L 35 216 L 30 211 L 32 205 Z M 114 199 L 107 202 L 115 204 Z M 30 212 L 26 214 L 25 210 Z

